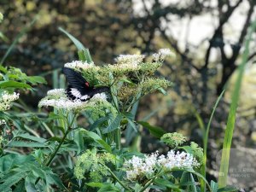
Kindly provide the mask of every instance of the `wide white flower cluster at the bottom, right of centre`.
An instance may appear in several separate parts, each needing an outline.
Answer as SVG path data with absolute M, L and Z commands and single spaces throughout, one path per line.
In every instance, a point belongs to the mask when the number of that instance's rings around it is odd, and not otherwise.
M 189 169 L 194 166 L 199 166 L 195 158 L 188 153 L 175 153 L 171 150 L 168 154 L 160 155 L 158 152 L 145 155 L 144 158 L 133 156 L 131 160 L 124 163 L 126 177 L 128 180 L 135 181 L 143 177 L 152 177 L 157 169 L 172 171 L 173 168 Z

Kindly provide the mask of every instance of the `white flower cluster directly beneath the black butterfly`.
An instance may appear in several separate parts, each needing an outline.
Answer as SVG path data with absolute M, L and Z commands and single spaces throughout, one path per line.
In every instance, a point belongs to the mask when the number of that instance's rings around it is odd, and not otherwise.
M 106 100 L 107 96 L 105 93 L 98 93 L 91 98 L 91 100 Z M 38 107 L 54 107 L 54 108 L 65 108 L 68 111 L 77 111 L 86 108 L 87 102 L 81 102 L 80 100 L 71 101 L 65 95 L 64 89 L 49 90 L 47 96 L 45 96 L 39 103 Z

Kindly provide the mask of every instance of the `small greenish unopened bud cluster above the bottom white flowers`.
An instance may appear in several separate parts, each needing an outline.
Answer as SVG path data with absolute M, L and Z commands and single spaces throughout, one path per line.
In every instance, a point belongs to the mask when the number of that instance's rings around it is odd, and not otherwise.
M 184 142 L 186 142 L 187 138 L 183 137 L 182 134 L 173 132 L 173 133 L 166 133 L 164 134 L 160 140 L 166 145 L 168 145 L 170 148 L 175 148 L 177 146 L 182 145 Z

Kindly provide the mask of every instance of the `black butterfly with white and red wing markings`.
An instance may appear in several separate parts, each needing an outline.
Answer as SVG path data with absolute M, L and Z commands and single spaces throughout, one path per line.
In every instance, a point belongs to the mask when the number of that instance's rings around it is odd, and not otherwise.
M 109 88 L 93 87 L 83 78 L 83 76 L 75 70 L 67 67 L 63 67 L 62 72 L 66 75 L 68 86 L 66 95 L 72 101 L 85 102 L 97 93 L 107 92 Z

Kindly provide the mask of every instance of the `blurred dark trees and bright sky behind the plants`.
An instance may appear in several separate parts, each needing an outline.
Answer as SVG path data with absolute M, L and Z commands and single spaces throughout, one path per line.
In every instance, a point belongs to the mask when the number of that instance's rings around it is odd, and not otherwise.
M 214 115 L 209 136 L 208 177 L 214 177 L 215 156 L 222 147 L 236 68 L 241 62 L 247 28 L 256 19 L 255 0 L 1 0 L 4 15 L 0 56 L 24 30 L 5 61 L 30 75 L 43 75 L 47 85 L 23 96 L 32 110 L 46 91 L 60 87 L 64 63 L 77 60 L 73 43 L 61 26 L 87 48 L 96 65 L 113 63 L 119 54 L 152 55 L 160 48 L 176 54 L 157 75 L 173 82 L 166 96 L 144 97 L 137 119 L 166 131 L 179 131 L 202 146 L 201 125 L 207 125 L 214 102 L 229 81 Z M 31 26 L 32 20 L 38 20 Z M 256 33 L 242 83 L 234 148 L 256 147 Z M 150 103 L 150 105 L 148 104 Z M 147 131 L 141 148 L 159 148 Z

